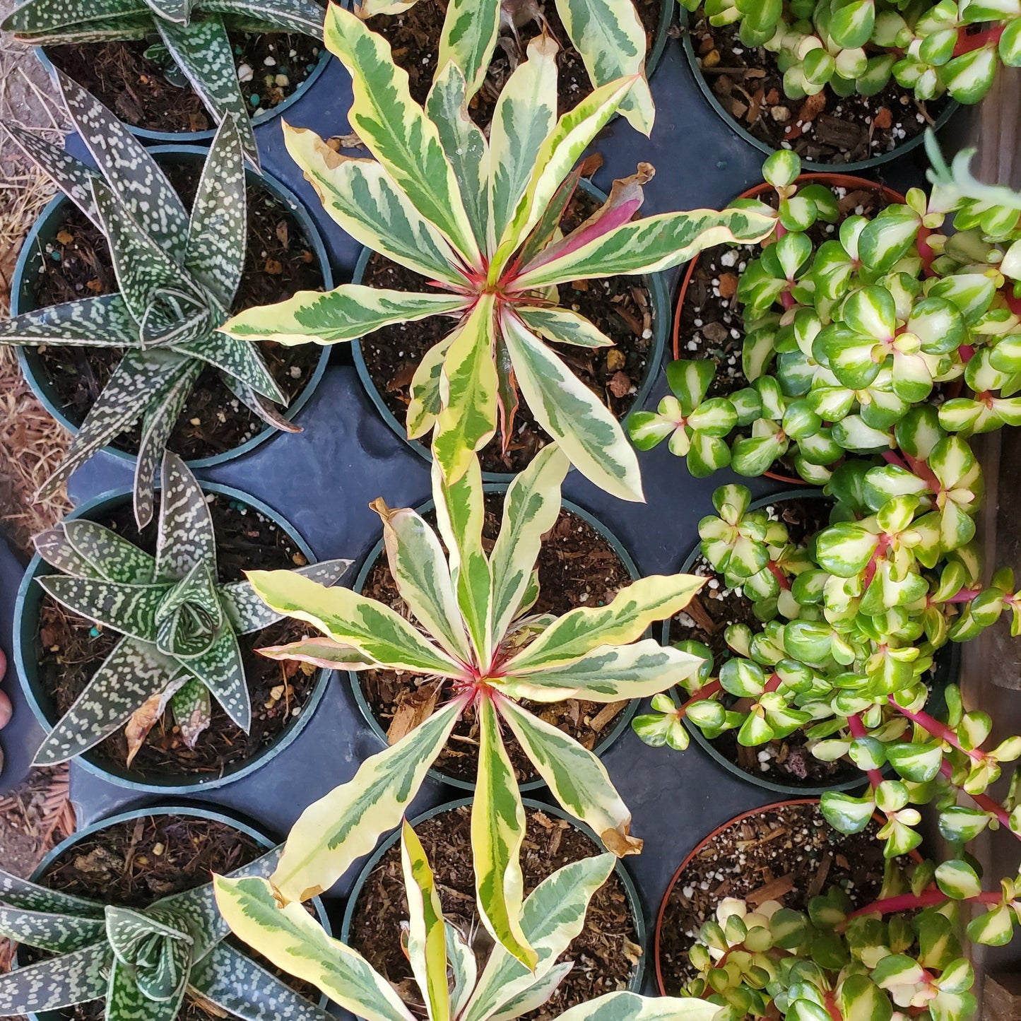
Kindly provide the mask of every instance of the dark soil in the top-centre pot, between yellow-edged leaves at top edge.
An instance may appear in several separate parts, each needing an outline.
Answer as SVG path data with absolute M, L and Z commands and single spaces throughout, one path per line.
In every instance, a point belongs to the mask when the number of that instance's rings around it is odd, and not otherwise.
M 523 4 L 522 7 L 528 5 Z M 533 4 L 545 21 L 547 33 L 556 41 L 561 51 L 556 56 L 557 112 L 564 113 L 578 105 L 592 91 L 592 84 L 585 70 L 581 54 L 571 45 L 567 31 L 549 0 Z M 635 0 L 635 7 L 647 39 L 646 53 L 660 28 L 663 4 L 660 0 Z M 378 14 L 366 23 L 373 32 L 384 36 L 393 48 L 394 61 L 407 71 L 411 96 L 424 103 L 436 74 L 440 33 L 446 15 L 442 0 L 419 0 L 402 14 Z M 540 21 L 530 19 L 517 30 L 517 40 L 510 32 L 501 35 L 496 52 L 482 88 L 473 97 L 470 110 L 473 118 L 486 126 L 492 119 L 496 100 L 503 86 L 518 64 L 526 58 L 529 42 L 542 32 Z

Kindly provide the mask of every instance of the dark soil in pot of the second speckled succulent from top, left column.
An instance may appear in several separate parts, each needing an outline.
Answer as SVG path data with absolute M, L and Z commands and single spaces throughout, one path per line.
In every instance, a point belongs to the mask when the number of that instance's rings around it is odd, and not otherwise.
M 190 208 L 201 162 L 191 157 L 161 162 L 185 206 Z M 323 274 L 310 239 L 287 206 L 251 181 L 247 203 L 248 246 L 232 311 L 284 301 L 295 291 L 321 289 Z M 69 202 L 42 256 L 42 269 L 34 284 L 36 307 L 118 290 L 106 239 Z M 259 349 L 289 400 L 307 385 L 322 353 L 318 344 L 284 347 L 263 342 Z M 56 403 L 76 425 L 85 420 L 123 353 L 119 347 L 40 347 L 39 359 L 56 391 Z M 221 374 L 206 367 L 192 388 L 167 445 L 187 459 L 208 457 L 240 446 L 263 428 L 262 420 L 227 388 Z M 121 433 L 114 446 L 137 453 L 141 432 L 140 421 Z

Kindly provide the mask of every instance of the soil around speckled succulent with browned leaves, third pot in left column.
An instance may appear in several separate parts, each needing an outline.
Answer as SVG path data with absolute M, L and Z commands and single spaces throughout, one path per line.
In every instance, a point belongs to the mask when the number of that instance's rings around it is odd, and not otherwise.
M 216 530 L 216 567 L 222 582 L 236 581 L 246 570 L 272 571 L 301 567 L 306 563 L 293 540 L 269 518 L 223 494 L 209 495 Z M 158 491 L 156 500 L 158 504 Z M 142 549 L 150 553 L 155 551 L 155 520 L 140 534 L 130 503 L 94 520 L 115 529 Z M 280 737 L 300 715 L 311 694 L 315 671 L 297 663 L 268 660 L 255 650 L 295 641 L 307 632 L 307 625 L 285 618 L 261 631 L 238 636 L 252 703 L 248 734 L 235 726 L 212 698 L 209 727 L 199 735 L 195 747 L 189 748 L 167 710 L 149 731 L 132 763 L 132 770 L 137 771 L 140 778 L 189 780 L 220 776 Z M 39 679 L 61 716 L 70 709 L 119 640 L 119 635 L 94 627 L 91 621 L 70 613 L 48 595 L 43 596 L 35 644 Z M 103 765 L 123 769 L 128 757 L 124 729 L 111 734 L 90 755 Z

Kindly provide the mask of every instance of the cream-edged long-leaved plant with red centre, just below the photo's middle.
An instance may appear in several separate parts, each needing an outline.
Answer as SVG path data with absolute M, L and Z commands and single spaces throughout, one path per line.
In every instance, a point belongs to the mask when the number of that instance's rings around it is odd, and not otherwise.
M 285 900 L 304 900 L 331 886 L 399 823 L 469 709 L 479 740 L 472 807 L 479 910 L 493 938 L 514 957 L 532 968 L 537 952 L 522 931 L 525 812 L 501 727 L 517 738 L 564 809 L 591 826 L 610 850 L 640 850 L 641 841 L 629 833 L 631 815 L 599 760 L 520 700 L 615 702 L 680 682 L 699 661 L 638 639 L 652 621 L 687 605 L 702 581 L 653 576 L 622 589 L 604 606 L 582 606 L 560 618 L 530 615 L 538 597 L 536 557 L 560 514 L 567 470 L 567 457 L 550 444 L 515 479 L 490 555 L 482 544 L 477 457 L 453 483 L 444 481 L 434 463 L 439 537 L 414 510 L 395 510 L 382 500 L 373 504 L 383 520 L 390 570 L 418 628 L 348 589 L 325 588 L 287 572 L 249 574 L 268 605 L 328 636 L 264 649 L 266 654 L 337 669 L 432 675 L 444 682 L 447 697 L 418 728 L 362 763 L 352 780 L 305 810 L 273 877 Z

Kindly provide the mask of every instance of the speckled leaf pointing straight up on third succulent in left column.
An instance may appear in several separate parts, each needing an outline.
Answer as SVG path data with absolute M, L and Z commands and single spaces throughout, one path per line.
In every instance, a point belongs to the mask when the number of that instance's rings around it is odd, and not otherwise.
M 181 457 L 163 454 L 163 489 L 156 538 L 156 577 L 180 581 L 196 564 L 216 573 L 216 535 L 205 493 Z

